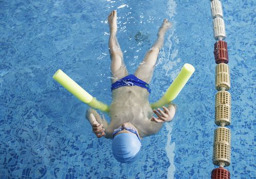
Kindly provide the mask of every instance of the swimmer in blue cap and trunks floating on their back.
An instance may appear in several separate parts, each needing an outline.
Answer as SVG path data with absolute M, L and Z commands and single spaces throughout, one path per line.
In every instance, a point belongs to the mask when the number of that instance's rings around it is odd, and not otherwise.
M 135 74 L 129 75 L 116 37 L 117 11 L 110 13 L 108 21 L 113 98 L 110 106 L 111 122 L 108 123 L 92 108 L 87 111 L 87 119 L 97 138 L 104 136 L 113 139 L 112 151 L 117 161 L 130 163 L 140 151 L 141 139 L 157 133 L 164 122 L 173 119 L 176 112 L 175 104 L 152 110 L 148 101 L 151 92 L 148 84 L 163 46 L 164 35 L 172 27 L 172 23 L 167 19 L 163 20 L 157 40 L 146 53 Z

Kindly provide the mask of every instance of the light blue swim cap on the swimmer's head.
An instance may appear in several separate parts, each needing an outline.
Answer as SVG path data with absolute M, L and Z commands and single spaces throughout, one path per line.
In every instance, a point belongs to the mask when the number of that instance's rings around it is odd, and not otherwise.
M 134 162 L 140 147 L 141 143 L 134 133 L 119 133 L 112 142 L 113 155 L 121 163 Z

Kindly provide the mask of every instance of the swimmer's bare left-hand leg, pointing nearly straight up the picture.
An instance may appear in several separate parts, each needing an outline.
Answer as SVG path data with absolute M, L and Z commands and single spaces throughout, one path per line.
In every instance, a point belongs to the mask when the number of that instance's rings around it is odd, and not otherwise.
M 108 17 L 110 26 L 109 50 L 111 57 L 112 83 L 128 75 L 123 62 L 123 53 L 117 41 L 117 12 L 112 11 Z

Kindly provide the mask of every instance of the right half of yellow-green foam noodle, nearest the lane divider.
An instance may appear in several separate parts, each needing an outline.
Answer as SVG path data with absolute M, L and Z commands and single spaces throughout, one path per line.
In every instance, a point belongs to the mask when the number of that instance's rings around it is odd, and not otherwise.
M 159 99 L 157 102 L 151 104 L 151 107 L 157 108 L 162 107 L 170 102 L 172 102 L 180 93 L 181 89 L 185 86 L 188 79 L 195 72 L 195 68 L 193 65 L 185 63 L 179 73 L 179 75 L 175 78 L 173 83 L 168 87 L 165 94 Z

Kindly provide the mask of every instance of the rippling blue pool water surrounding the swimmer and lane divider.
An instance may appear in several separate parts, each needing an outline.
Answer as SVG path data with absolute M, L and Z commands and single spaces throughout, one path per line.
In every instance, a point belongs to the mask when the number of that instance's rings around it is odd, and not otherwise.
M 231 178 L 255 174 L 255 3 L 222 1 L 231 74 Z M 109 29 L 133 73 L 163 18 L 173 21 L 152 79 L 156 101 L 184 63 L 196 72 L 178 112 L 142 142 L 138 161 L 118 163 L 111 141 L 97 139 L 88 106 L 52 79 L 62 69 L 110 104 Z M 210 1 L 0 1 L 0 178 L 210 178 L 215 60 Z M 106 116 L 106 115 L 105 115 Z M 106 116 L 108 120 L 109 117 Z

